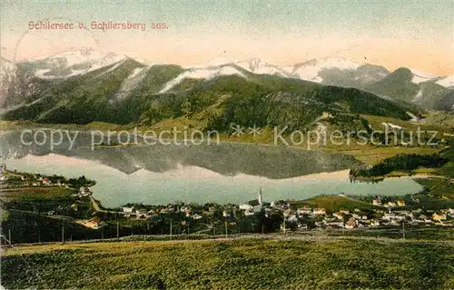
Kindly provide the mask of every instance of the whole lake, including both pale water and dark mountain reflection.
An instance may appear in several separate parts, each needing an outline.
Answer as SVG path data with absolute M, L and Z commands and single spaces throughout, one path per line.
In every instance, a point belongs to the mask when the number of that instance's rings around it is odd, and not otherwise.
M 100 147 L 84 141 L 75 149 L 61 145 L 16 144 L 2 135 L 0 155 L 9 169 L 45 175 L 94 179 L 94 198 L 104 206 L 173 202 L 241 204 L 305 199 L 315 195 L 406 195 L 421 186 L 410 177 L 379 183 L 351 183 L 349 155 L 265 145 L 152 145 Z M 86 140 L 85 140 L 86 141 Z

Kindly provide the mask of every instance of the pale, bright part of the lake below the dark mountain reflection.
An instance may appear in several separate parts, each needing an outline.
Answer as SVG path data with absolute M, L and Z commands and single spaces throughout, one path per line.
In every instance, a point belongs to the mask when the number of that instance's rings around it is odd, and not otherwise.
M 262 188 L 263 199 L 305 199 L 315 195 L 406 195 L 421 186 L 409 177 L 385 179 L 380 183 L 350 183 L 349 170 L 272 179 L 259 175 L 222 175 L 195 165 L 176 165 L 164 172 L 143 169 L 140 163 L 133 173 L 104 165 L 100 161 L 65 155 L 25 155 L 7 160 L 18 171 L 65 175 L 85 175 L 97 184 L 94 197 L 104 206 L 126 203 L 163 205 L 176 201 L 240 204 L 256 198 Z

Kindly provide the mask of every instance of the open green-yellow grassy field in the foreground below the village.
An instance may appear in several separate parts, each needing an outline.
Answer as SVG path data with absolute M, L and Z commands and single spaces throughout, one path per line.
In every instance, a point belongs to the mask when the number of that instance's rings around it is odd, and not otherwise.
M 5 249 L 6 288 L 452 289 L 454 245 L 390 239 L 118 242 Z

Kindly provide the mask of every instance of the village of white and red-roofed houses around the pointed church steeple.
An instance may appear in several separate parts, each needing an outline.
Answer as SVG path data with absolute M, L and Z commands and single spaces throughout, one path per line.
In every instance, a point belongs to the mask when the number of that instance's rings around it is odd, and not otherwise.
M 345 195 L 337 195 L 346 198 Z M 381 203 L 380 196 L 373 199 L 373 208 L 363 210 L 359 208 L 339 209 L 332 212 L 330 209 L 304 205 L 296 207 L 294 201 L 262 202 L 262 192 L 256 200 L 242 205 L 163 205 L 163 206 L 123 206 L 121 214 L 129 219 L 155 220 L 159 216 L 170 213 L 183 213 L 184 222 L 187 220 L 200 220 L 211 216 L 216 211 L 222 212 L 222 219 L 229 224 L 241 222 L 248 216 L 270 218 L 271 215 L 281 216 L 281 231 L 301 231 L 313 228 L 379 228 L 402 226 L 454 226 L 454 209 L 443 208 L 438 211 L 418 209 L 405 209 L 403 200 Z M 153 207 L 149 209 L 150 207 Z M 219 216 L 219 215 L 218 215 Z M 221 216 L 220 216 L 221 217 Z

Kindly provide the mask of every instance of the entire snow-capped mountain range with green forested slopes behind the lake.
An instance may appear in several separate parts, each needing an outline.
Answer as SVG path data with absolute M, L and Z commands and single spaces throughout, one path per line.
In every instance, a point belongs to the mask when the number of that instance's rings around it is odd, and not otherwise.
M 454 110 L 454 75 L 390 72 L 337 57 L 280 66 L 218 55 L 183 67 L 84 49 L 16 64 L 2 58 L 0 79 L 2 118 L 38 123 L 153 124 L 187 116 L 224 127 L 307 125 L 326 111 L 406 119 L 408 111 Z

